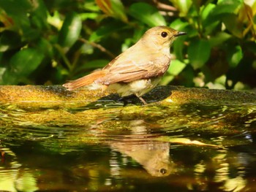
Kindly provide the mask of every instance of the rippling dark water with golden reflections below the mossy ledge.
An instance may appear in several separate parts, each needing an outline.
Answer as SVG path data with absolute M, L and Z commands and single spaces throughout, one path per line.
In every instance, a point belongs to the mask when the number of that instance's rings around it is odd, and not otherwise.
M 1 104 L 0 127 L 0 191 L 256 191 L 256 104 Z

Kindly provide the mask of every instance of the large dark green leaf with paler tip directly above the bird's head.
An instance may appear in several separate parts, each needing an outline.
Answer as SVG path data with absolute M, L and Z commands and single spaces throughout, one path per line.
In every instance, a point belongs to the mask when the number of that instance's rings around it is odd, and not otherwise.
M 135 3 L 129 7 L 129 15 L 140 20 L 146 25 L 153 26 L 166 26 L 165 18 L 160 15 L 156 7 L 152 7 L 146 3 Z

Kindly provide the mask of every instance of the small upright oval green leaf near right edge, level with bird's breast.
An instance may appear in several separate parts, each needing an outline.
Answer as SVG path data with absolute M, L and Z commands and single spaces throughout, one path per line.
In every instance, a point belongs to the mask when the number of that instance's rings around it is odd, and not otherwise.
M 231 68 L 235 68 L 243 58 L 241 46 L 230 47 L 227 50 L 227 61 Z

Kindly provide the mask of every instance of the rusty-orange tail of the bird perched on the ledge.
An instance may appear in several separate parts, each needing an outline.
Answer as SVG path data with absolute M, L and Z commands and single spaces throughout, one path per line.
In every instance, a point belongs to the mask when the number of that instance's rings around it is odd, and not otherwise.
M 106 74 L 105 70 L 101 70 L 98 72 L 93 72 L 89 75 L 86 75 L 85 77 L 81 77 L 78 80 L 73 80 L 70 82 L 65 83 L 64 86 L 65 88 L 67 88 L 67 90 L 72 91 L 76 88 L 80 88 L 86 85 L 90 85 L 91 83 L 93 83 L 95 80 L 99 79 L 100 77 L 104 77 Z

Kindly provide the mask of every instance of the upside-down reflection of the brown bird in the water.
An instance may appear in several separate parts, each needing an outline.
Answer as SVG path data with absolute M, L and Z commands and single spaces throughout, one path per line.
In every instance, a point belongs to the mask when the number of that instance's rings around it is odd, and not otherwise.
M 130 125 L 132 134 L 111 142 L 110 147 L 137 161 L 154 177 L 165 177 L 174 172 L 169 154 L 170 142 L 155 141 L 158 134 L 148 134 L 143 120 L 133 120 Z

